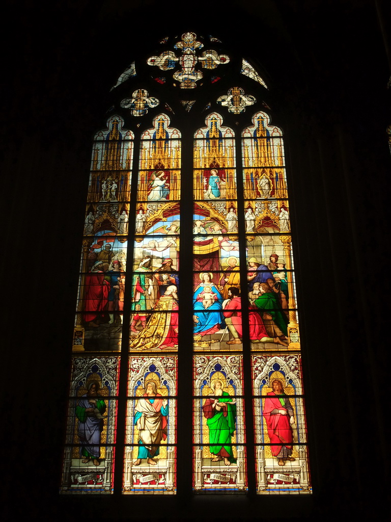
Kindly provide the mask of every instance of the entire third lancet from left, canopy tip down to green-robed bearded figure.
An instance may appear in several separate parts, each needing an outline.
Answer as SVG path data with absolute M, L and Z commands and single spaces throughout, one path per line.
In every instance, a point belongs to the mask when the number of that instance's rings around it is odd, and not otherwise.
M 193 155 L 193 487 L 198 492 L 243 492 L 247 477 L 235 133 L 216 112 L 205 124 L 194 135 Z

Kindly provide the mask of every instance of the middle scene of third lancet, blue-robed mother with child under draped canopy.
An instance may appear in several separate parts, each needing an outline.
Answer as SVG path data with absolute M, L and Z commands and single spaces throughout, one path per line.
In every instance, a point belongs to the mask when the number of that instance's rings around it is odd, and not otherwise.
M 230 345 L 241 345 L 236 208 L 232 200 L 194 203 L 193 346 L 196 350 L 230 350 Z M 239 316 L 238 329 L 227 327 L 233 315 Z

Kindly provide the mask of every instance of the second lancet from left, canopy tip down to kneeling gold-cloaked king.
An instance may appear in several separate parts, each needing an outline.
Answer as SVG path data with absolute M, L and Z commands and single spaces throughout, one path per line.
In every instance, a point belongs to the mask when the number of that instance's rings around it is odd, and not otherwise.
M 141 136 L 130 351 L 177 350 L 180 132 L 165 114 Z

